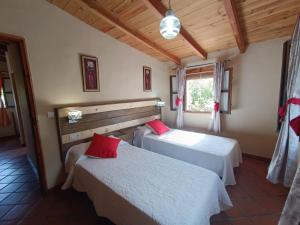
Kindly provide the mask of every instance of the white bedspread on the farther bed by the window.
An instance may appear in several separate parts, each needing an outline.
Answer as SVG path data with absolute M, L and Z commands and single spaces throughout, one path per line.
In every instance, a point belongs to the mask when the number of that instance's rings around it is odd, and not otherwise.
M 214 171 L 225 185 L 236 184 L 233 168 L 242 162 L 242 153 L 234 139 L 177 129 L 158 136 L 145 127 L 134 139 L 136 146 Z

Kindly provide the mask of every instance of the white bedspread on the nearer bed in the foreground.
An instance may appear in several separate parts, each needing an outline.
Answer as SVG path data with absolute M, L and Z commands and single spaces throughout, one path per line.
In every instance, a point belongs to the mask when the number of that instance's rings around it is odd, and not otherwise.
M 80 156 L 87 146 L 69 150 L 68 182 L 88 194 L 99 216 L 117 225 L 209 225 L 211 215 L 232 206 L 211 171 L 125 142 L 115 159 Z

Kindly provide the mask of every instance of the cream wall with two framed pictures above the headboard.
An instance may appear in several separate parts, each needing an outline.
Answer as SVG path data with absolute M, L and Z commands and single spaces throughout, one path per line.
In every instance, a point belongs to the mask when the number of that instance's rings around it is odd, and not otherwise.
M 13 16 L 12 16 L 13 15 Z M 117 99 L 168 99 L 167 65 L 84 24 L 41 0 L 2 0 L 0 30 L 26 39 L 37 103 L 48 187 L 61 181 L 55 120 L 47 112 L 62 104 Z M 82 91 L 79 54 L 99 60 L 101 92 Z M 143 92 L 143 65 L 152 67 L 153 92 Z

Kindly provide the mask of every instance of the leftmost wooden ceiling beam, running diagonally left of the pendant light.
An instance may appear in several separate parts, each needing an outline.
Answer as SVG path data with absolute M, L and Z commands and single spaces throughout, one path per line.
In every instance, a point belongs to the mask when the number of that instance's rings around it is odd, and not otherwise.
M 136 41 L 142 43 L 143 45 L 145 45 L 149 48 L 151 48 L 155 52 L 157 52 L 160 55 L 166 57 L 167 59 L 169 59 L 170 61 L 176 63 L 177 65 L 180 65 L 180 59 L 177 56 L 167 52 L 166 50 L 164 50 L 163 48 L 158 46 L 156 43 L 152 42 L 151 40 L 147 39 L 146 37 L 144 37 L 143 35 L 141 35 L 137 31 L 129 28 L 128 26 L 126 26 L 118 18 L 115 18 L 110 12 L 108 12 L 106 9 L 104 9 L 99 4 L 97 4 L 96 1 L 93 1 L 93 0 L 76 0 L 76 1 L 82 3 L 82 5 L 89 8 L 89 10 L 92 13 L 94 13 L 95 15 L 97 15 L 99 18 L 106 21 L 107 23 L 117 27 L 119 30 L 121 30 L 126 35 L 134 38 Z

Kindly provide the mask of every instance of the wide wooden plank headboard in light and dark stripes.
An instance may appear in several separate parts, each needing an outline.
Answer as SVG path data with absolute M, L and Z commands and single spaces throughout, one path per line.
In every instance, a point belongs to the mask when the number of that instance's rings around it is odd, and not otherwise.
M 161 109 L 156 106 L 159 98 L 102 102 L 89 105 L 68 105 L 55 109 L 61 159 L 67 150 L 89 141 L 94 133 L 128 135 L 134 127 L 161 118 Z M 82 119 L 69 123 L 70 110 L 82 111 Z

